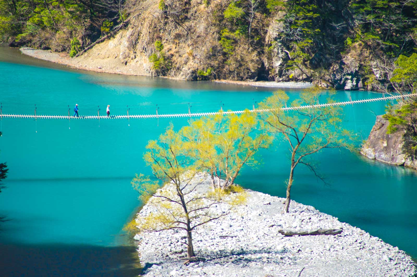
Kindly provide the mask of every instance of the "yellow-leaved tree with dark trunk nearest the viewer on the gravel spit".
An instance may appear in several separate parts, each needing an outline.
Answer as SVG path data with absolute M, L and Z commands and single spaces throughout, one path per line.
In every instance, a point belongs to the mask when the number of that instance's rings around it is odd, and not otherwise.
M 186 262 L 198 261 L 193 249 L 193 231 L 229 214 L 232 207 L 244 201 L 244 191 L 237 186 L 227 191 L 204 188 L 204 174 L 193 159 L 193 149 L 181 132 L 173 130 L 172 124 L 157 141 L 149 141 L 146 149 L 143 158 L 151 166 L 154 178 L 139 174 L 132 185 L 151 212 L 139 214 L 137 227 L 140 232 L 185 231 Z M 222 209 L 213 209 L 216 205 Z

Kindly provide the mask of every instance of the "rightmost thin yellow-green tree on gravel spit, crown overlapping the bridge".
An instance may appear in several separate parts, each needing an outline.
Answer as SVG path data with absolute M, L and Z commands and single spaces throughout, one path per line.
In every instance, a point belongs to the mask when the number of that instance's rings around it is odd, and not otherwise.
M 291 106 L 316 105 L 322 92 L 319 87 L 307 88 L 291 103 Z M 275 91 L 272 96 L 259 104 L 262 128 L 286 143 L 291 155 L 284 213 L 288 213 L 296 166 L 304 164 L 324 181 L 317 173 L 314 164 L 306 161 L 306 158 L 326 148 L 351 148 L 350 141 L 353 138 L 352 133 L 342 125 L 342 108 L 320 106 L 286 111 L 282 107 L 286 106 L 288 100 L 289 97 L 284 91 Z M 332 102 L 334 100 L 329 97 L 327 103 Z

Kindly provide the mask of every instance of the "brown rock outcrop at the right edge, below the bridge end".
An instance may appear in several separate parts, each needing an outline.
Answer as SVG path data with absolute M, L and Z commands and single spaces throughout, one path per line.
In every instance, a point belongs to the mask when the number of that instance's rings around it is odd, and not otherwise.
M 387 164 L 407 166 L 417 169 L 417 161 L 412 161 L 402 151 L 404 129 L 387 134 L 388 121 L 377 116 L 377 121 L 362 146 L 361 154 L 369 159 L 376 159 Z

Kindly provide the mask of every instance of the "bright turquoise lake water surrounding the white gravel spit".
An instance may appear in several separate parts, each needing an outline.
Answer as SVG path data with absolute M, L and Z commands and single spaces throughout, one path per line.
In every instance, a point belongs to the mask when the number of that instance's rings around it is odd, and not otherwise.
M 182 113 L 251 108 L 272 90 L 211 82 L 92 74 L 43 68 L 50 65 L 0 51 L 3 113 L 80 115 Z M 12 54 L 10 54 L 12 53 Z M 2 57 L 3 54 L 3 57 Z M 13 56 L 14 55 L 14 56 Z M 14 58 L 10 58 L 13 56 Z M 290 91 L 296 97 L 298 91 Z M 339 91 L 340 101 L 376 98 L 370 92 Z M 324 101 L 324 99 L 323 99 Z M 158 105 L 158 106 L 156 106 Z M 346 106 L 345 126 L 366 139 L 385 102 Z M 99 106 L 99 107 L 98 107 Z M 128 106 L 128 107 L 127 107 Z M 48 120 L 3 118 L 0 162 L 8 186 L 0 194 L 0 272 L 4 276 L 134 276 L 132 244 L 121 230 L 140 205 L 130 181 L 150 174 L 142 160 L 149 139 L 178 119 Z M 130 126 L 129 126 L 130 125 Z M 242 186 L 285 196 L 286 146 L 262 151 L 264 164 L 245 169 Z M 331 186 L 306 168 L 295 171 L 291 196 L 417 257 L 417 171 L 372 161 L 357 153 L 329 150 L 314 156 Z M 23 265 L 27 265 L 22 267 Z M 48 274 L 45 274 L 48 272 Z M 2 275 L 3 276 L 3 275 Z

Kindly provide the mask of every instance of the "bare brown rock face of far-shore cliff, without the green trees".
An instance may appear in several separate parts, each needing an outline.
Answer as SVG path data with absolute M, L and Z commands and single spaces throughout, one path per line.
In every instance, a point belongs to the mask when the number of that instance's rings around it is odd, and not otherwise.
M 171 62 L 170 69 L 162 75 L 171 78 L 195 81 L 201 78 L 198 71 L 211 68 L 208 78 L 214 79 L 313 81 L 337 89 L 363 86 L 360 64 L 364 56 L 369 59 L 369 53 L 360 43 L 349 48 L 341 60 L 328 63 L 321 75 L 311 68 L 289 69 L 288 62 L 294 57 L 280 36 L 284 30 L 283 11 L 268 17 L 256 15 L 253 26 L 259 32 L 258 45 L 249 43 L 243 36 L 233 37 L 235 33 L 227 37 L 234 40 L 234 54 L 227 54 L 221 32 L 225 30 L 223 11 L 229 5 L 228 0 L 212 1 L 210 5 L 204 0 L 186 1 L 181 6 L 185 7 L 181 18 L 158 8 L 159 3 L 158 0 L 131 1 L 134 8 L 127 28 L 75 58 L 75 63 L 85 65 L 86 69 L 98 67 L 124 74 L 161 75 L 149 61 L 152 53 L 157 53 L 154 43 L 158 40 Z M 319 55 L 315 59 L 329 59 Z

